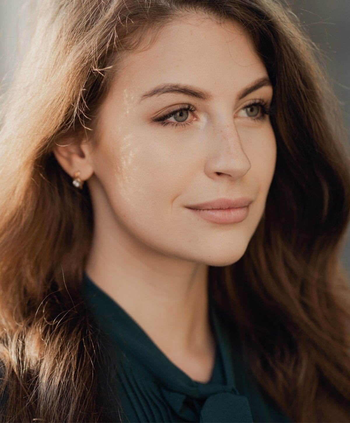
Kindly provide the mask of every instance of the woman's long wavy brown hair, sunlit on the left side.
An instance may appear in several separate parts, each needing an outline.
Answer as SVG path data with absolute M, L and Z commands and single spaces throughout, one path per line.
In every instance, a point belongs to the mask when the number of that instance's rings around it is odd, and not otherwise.
M 251 35 L 274 88 L 276 170 L 243 257 L 209 268 L 262 389 L 297 422 L 350 421 L 350 284 L 339 255 L 350 160 L 317 48 L 274 0 L 39 0 L 0 122 L 0 359 L 5 421 L 108 421 L 104 360 L 82 298 L 93 213 L 52 153 L 93 133 L 123 52 L 193 12 Z

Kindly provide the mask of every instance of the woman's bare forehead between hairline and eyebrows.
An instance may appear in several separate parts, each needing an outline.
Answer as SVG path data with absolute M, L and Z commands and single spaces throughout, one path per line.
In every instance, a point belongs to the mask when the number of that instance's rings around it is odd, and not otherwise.
M 220 25 L 196 15 L 168 24 L 150 48 L 123 56 L 120 66 L 110 95 L 117 92 L 129 104 L 138 104 L 142 93 L 162 83 L 196 85 L 213 98 L 232 98 L 267 76 L 249 34 L 237 22 Z

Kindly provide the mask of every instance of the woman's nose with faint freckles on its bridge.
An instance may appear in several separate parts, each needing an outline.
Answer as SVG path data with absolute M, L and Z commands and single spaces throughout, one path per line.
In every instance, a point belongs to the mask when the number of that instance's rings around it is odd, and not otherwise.
M 232 117 L 231 117 L 232 119 Z M 213 137 L 208 142 L 208 159 L 205 172 L 213 177 L 242 178 L 251 168 L 251 162 L 243 150 L 241 140 L 232 119 L 232 123 L 218 123 L 213 130 Z

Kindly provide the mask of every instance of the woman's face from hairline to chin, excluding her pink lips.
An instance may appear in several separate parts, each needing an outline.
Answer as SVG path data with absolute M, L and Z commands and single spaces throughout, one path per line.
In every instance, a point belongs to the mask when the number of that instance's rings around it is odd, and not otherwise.
M 150 49 L 128 55 L 99 111 L 89 153 L 98 227 L 107 225 L 119 242 L 186 261 L 224 266 L 241 258 L 276 162 L 260 105 L 271 103 L 271 85 L 244 93 L 264 78 L 265 66 L 238 25 L 197 15 L 172 22 Z M 202 94 L 167 92 L 164 84 Z M 252 199 L 246 218 L 209 222 L 187 208 L 223 197 Z

